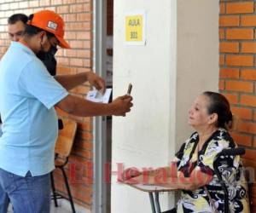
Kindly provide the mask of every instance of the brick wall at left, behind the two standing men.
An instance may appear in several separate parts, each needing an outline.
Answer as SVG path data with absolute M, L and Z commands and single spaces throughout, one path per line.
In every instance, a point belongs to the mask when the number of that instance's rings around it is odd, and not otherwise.
M 57 53 L 58 74 L 90 71 L 92 67 L 92 0 L 1 0 L 0 1 L 0 53 L 9 46 L 7 18 L 11 14 L 31 14 L 40 9 L 51 9 L 61 14 L 66 22 L 66 35 L 72 49 L 59 49 Z M 71 92 L 84 97 L 88 84 L 79 86 Z M 67 165 L 67 174 L 71 181 L 74 201 L 87 208 L 91 207 L 92 185 L 90 174 L 85 168 L 92 159 L 92 120 L 78 118 L 58 110 L 61 116 L 73 118 L 79 122 L 79 129 L 74 142 L 72 156 Z M 71 166 L 72 165 L 72 166 Z M 71 170 L 76 174 L 71 177 Z M 88 174 L 87 174 L 88 173 Z M 66 194 L 60 172 L 55 172 L 55 183 Z

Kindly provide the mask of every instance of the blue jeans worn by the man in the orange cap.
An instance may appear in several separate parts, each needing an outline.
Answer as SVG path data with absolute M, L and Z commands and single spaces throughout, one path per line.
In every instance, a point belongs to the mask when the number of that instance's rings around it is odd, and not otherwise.
M 16 176 L 0 169 L 0 186 L 8 194 L 15 213 L 49 213 L 49 174 Z

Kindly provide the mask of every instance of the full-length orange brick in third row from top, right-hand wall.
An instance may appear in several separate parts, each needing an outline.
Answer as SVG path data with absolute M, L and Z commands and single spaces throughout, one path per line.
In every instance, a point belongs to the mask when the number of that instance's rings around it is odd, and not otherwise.
M 253 39 L 253 28 L 250 29 L 227 29 L 226 30 L 227 39 Z

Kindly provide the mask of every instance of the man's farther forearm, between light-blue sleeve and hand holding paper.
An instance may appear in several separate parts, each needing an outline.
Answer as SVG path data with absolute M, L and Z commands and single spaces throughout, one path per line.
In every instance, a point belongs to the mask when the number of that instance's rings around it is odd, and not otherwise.
M 73 89 L 79 84 L 86 82 L 88 72 L 82 72 L 79 74 L 73 74 L 73 75 L 58 75 L 55 76 L 55 80 L 59 83 L 61 83 L 62 87 L 64 87 L 67 90 Z

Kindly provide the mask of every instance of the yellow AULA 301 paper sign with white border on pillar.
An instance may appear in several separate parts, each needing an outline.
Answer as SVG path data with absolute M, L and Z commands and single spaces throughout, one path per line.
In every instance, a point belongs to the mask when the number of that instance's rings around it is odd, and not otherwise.
M 128 45 L 145 45 L 145 12 L 125 14 L 125 43 Z

